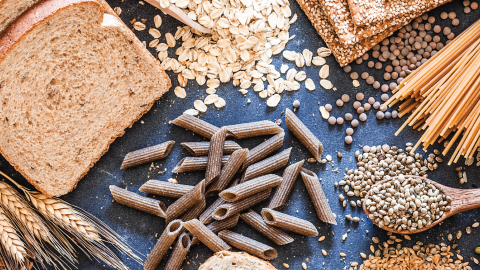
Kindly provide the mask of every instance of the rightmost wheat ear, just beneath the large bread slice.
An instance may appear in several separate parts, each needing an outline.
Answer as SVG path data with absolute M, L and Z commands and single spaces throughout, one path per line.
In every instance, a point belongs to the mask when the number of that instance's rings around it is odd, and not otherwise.
M 61 226 L 68 226 L 91 240 L 100 240 L 98 231 L 60 199 L 49 198 L 36 191 L 26 191 L 25 193 L 33 206 L 44 216 L 60 222 Z

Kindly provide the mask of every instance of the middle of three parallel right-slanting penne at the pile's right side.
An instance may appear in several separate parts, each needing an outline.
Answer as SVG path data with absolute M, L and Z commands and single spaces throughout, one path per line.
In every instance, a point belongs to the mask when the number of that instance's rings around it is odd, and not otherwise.
M 285 167 L 290 159 L 290 152 L 292 148 L 283 150 L 282 152 L 266 158 L 260 162 L 250 165 L 240 182 L 245 182 L 253 178 L 274 172 L 282 167 Z

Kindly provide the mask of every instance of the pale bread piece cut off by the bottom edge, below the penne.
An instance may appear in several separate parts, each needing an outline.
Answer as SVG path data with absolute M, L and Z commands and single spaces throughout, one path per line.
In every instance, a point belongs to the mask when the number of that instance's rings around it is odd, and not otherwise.
M 244 252 L 220 251 L 203 263 L 199 270 L 276 270 L 269 262 Z

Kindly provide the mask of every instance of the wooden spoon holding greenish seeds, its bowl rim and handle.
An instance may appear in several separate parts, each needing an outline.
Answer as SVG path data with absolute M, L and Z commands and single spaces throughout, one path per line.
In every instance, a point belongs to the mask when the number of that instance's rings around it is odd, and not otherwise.
M 369 190 L 367 195 L 365 196 L 365 199 L 363 200 L 363 211 L 365 214 L 367 214 L 367 217 L 370 215 L 370 211 L 367 210 L 366 206 L 366 201 L 368 197 L 370 196 L 370 193 L 372 192 L 373 188 L 375 186 L 378 186 L 380 184 L 386 183 L 388 181 L 395 180 L 398 176 L 382 180 L 378 183 L 375 183 L 375 185 L 372 186 L 372 188 Z M 397 231 L 394 230 L 393 228 L 389 228 L 387 226 L 383 226 L 382 229 L 392 232 L 392 233 L 399 233 L 399 234 L 414 234 L 414 233 L 419 233 L 423 232 L 425 230 L 430 229 L 431 227 L 437 225 L 438 223 L 444 221 L 446 218 L 453 216 L 455 214 L 461 213 L 463 211 L 471 210 L 474 208 L 480 207 L 480 189 L 458 189 L 458 188 L 451 188 L 447 187 L 444 185 L 441 185 L 435 181 L 432 181 L 430 179 L 427 179 L 425 177 L 420 177 L 420 176 L 413 176 L 413 175 L 405 175 L 405 178 L 419 178 L 422 179 L 423 181 L 429 180 L 430 183 L 434 186 L 436 186 L 438 189 L 443 191 L 443 194 L 450 196 L 452 199 L 452 202 L 450 203 L 450 211 L 445 212 L 443 216 L 441 216 L 439 219 L 437 219 L 435 222 L 433 222 L 430 226 L 428 227 L 423 227 L 421 229 L 418 229 L 416 231 L 410 231 L 410 230 L 403 230 L 403 231 Z M 378 226 L 378 224 L 375 223 L 374 220 L 372 222 Z

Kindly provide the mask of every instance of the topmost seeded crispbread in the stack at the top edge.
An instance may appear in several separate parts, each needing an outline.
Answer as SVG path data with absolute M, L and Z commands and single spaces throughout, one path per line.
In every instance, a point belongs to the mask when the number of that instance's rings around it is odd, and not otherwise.
M 352 22 L 357 26 L 373 25 L 402 17 L 417 10 L 432 9 L 450 1 L 445 0 L 347 0 Z

